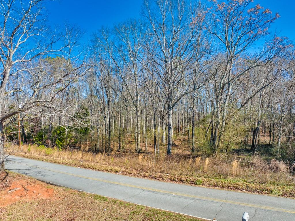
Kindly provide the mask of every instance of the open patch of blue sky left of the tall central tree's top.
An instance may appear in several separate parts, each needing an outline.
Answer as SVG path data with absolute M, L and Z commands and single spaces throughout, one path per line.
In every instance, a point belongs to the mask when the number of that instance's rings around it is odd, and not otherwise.
M 65 22 L 78 25 L 85 31 L 83 40 L 91 40 L 92 34 L 102 26 L 126 19 L 140 17 L 142 0 L 57 0 L 46 6 L 50 25 L 63 26 Z

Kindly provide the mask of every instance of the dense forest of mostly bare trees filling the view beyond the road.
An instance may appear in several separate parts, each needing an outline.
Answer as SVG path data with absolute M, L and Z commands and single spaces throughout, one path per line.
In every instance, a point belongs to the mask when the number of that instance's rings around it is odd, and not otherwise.
M 145 0 L 139 19 L 97 27 L 87 44 L 75 25 L 50 29 L 42 0 L 0 11 L 0 171 L 5 154 L 39 150 L 133 162 L 128 174 L 186 162 L 180 175 L 240 168 L 253 180 L 267 167 L 294 181 L 294 45 L 267 5 Z

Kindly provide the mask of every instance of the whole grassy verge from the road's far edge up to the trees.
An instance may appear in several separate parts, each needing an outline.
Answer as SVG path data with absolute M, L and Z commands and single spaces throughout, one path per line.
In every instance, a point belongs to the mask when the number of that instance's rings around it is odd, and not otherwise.
M 290 165 L 252 157 L 248 148 L 232 150 L 235 155 L 201 158 L 190 154 L 185 140 L 175 141 L 172 156 L 165 155 L 163 146 L 157 157 L 152 145 L 148 145 L 147 151 L 135 154 L 131 141 L 124 151 L 114 148 L 112 153 L 58 150 L 36 145 L 18 149 L 12 143 L 5 146 L 6 153 L 41 161 L 146 179 L 295 198 L 295 176 L 291 174 Z M 144 150 L 144 144 L 141 148 Z

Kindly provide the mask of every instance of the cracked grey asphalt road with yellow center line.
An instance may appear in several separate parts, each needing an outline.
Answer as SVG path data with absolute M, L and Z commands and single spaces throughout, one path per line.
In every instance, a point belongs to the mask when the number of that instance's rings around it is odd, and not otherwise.
M 127 202 L 219 221 L 294 221 L 295 200 L 123 176 L 9 156 L 5 168 Z

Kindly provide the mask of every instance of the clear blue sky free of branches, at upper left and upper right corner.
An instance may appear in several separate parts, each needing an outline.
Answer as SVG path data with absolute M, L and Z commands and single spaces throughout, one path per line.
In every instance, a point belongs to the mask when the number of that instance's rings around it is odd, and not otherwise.
M 254 3 L 278 12 L 281 17 L 273 24 L 273 29 L 295 41 L 295 0 L 254 0 Z M 65 22 L 76 24 L 86 31 L 83 40 L 87 41 L 101 26 L 139 17 L 141 5 L 142 0 L 57 0 L 45 6 L 53 27 L 63 26 Z

